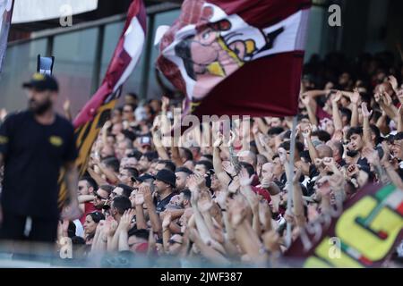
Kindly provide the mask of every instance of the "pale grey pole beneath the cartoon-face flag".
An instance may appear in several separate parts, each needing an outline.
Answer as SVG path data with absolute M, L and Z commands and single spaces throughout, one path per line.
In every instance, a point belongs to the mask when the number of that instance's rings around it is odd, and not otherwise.
M 291 147 L 289 153 L 289 181 L 288 181 L 288 196 L 287 196 L 287 211 L 292 214 L 292 203 L 293 203 L 293 193 L 294 193 L 294 156 L 296 154 L 296 116 L 293 118 L 293 129 L 291 131 Z M 287 166 L 286 166 L 287 168 Z M 287 171 L 286 171 L 287 172 Z M 291 245 L 292 233 L 291 233 L 291 223 L 287 223 L 287 236 L 286 236 L 286 246 L 287 248 Z

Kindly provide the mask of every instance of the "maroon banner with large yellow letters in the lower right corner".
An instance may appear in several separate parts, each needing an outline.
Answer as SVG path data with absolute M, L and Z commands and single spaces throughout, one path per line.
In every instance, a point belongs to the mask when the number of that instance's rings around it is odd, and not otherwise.
M 286 257 L 304 267 L 380 267 L 402 240 L 403 190 L 369 185 L 340 215 L 305 228 Z

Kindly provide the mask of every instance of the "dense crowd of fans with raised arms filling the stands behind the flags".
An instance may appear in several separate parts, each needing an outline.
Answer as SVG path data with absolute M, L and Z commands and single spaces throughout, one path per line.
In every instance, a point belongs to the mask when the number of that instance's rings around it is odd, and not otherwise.
M 176 257 L 182 266 L 192 257 L 269 265 L 287 250 L 287 236 L 296 240 L 365 184 L 403 189 L 402 78 L 387 53 L 354 62 L 313 57 L 304 67 L 294 160 L 293 118 L 234 121 L 230 136 L 207 123 L 164 144 L 178 105 L 127 94 L 79 181 L 83 215 L 61 221 L 58 236 L 71 238 L 73 257 L 117 251 Z

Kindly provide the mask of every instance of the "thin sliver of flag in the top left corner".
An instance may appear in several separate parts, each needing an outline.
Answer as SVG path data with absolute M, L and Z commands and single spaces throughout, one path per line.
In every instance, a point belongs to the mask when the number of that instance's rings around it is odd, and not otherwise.
M 13 15 L 13 0 L 0 0 L 0 72 L 7 49 L 8 31 Z

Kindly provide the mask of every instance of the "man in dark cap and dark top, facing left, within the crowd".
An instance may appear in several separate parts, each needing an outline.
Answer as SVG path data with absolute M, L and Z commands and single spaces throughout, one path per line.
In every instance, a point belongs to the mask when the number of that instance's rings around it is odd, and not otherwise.
M 165 211 L 167 204 L 174 197 L 176 187 L 176 176 L 174 172 L 162 169 L 155 175 L 154 187 L 158 193 L 156 200 L 157 213 Z

